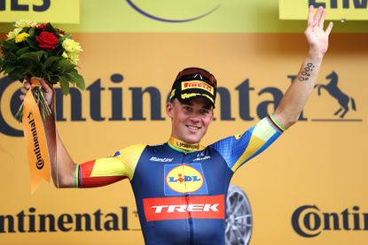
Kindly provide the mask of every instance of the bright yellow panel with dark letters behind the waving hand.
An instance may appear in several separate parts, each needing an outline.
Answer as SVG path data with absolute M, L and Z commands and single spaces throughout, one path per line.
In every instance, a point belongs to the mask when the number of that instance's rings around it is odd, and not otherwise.
M 278 0 L 280 19 L 305 19 L 308 6 L 322 6 L 327 11 L 327 19 L 367 20 L 368 2 L 366 0 Z

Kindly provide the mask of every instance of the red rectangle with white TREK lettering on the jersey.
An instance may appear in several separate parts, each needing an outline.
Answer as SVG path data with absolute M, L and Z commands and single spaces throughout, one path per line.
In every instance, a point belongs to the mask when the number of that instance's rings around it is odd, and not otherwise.
M 147 222 L 166 219 L 225 218 L 224 195 L 143 199 Z

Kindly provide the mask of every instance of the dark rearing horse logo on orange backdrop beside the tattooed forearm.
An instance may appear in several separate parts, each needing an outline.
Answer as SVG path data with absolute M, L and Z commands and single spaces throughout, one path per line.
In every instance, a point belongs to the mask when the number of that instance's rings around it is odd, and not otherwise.
M 337 73 L 333 72 L 325 78 L 327 80 L 330 80 L 327 85 L 316 84 L 314 88 L 317 88 L 318 96 L 321 96 L 321 88 L 325 88 L 328 94 L 330 94 L 330 96 L 333 96 L 333 98 L 335 98 L 340 104 L 341 107 L 339 108 L 339 110 L 333 113 L 333 115 L 337 116 L 342 111 L 340 118 L 343 119 L 345 117 L 345 114 L 349 111 L 348 103 L 351 103 L 351 109 L 356 111 L 356 102 L 354 98 L 344 94 L 337 86 L 337 83 L 339 81 L 339 76 L 337 75 Z

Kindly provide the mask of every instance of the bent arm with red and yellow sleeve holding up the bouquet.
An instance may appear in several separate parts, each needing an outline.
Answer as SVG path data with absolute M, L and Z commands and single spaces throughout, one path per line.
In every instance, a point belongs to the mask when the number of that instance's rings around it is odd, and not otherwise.
M 41 80 L 41 85 L 45 99 L 50 106 L 53 98 L 53 90 L 44 80 Z M 25 82 L 23 88 L 21 88 L 21 100 L 24 99 L 29 88 L 29 82 Z M 51 128 L 53 128 L 54 124 L 53 117 L 49 117 L 43 122 L 46 137 L 49 139 L 53 137 Z M 56 163 L 52 163 L 51 161 L 51 175 L 57 188 L 97 188 L 127 178 L 131 180 L 137 161 L 145 149 L 145 145 L 133 145 L 117 151 L 114 157 L 98 158 L 82 163 L 81 165 L 76 165 L 61 141 L 57 130 L 55 145 L 57 159 Z M 51 154 L 55 152 L 55 145 L 48 141 Z

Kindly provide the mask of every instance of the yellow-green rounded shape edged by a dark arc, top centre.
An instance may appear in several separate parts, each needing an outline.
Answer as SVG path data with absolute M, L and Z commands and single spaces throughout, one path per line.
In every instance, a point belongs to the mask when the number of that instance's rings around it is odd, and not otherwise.
M 206 2 L 205 4 L 201 4 L 201 1 L 196 0 L 189 0 L 189 1 L 127 0 L 127 3 L 135 11 L 144 15 L 145 17 L 170 23 L 181 23 L 202 19 L 220 7 L 219 4 L 220 0 L 212 0 L 205 2 Z M 185 15 L 183 16 L 183 14 Z M 164 17 L 165 15 L 170 17 Z M 176 18 L 172 17 L 173 15 L 176 15 Z

